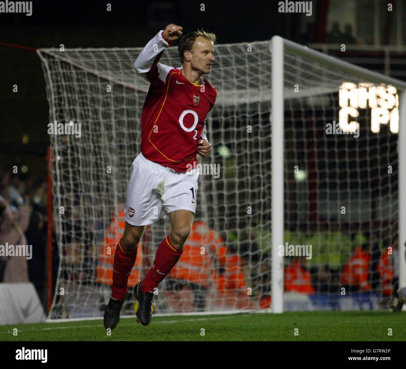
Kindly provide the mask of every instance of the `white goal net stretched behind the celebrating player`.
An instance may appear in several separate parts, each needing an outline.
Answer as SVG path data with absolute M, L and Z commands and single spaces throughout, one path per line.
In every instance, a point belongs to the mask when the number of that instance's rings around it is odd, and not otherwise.
M 282 301 L 278 288 L 285 290 L 285 310 L 382 308 L 399 277 L 397 130 L 405 85 L 285 47 L 276 106 L 271 41 L 215 48 L 207 79 L 218 97 L 206 121 L 213 151 L 199 159 L 194 227 L 159 286 L 154 313 L 268 309 L 272 299 Z M 51 319 L 100 317 L 106 307 L 149 88 L 133 66 L 141 50 L 38 51 L 48 132 L 54 129 L 59 268 Z M 180 66 L 177 48 L 169 47 L 160 62 Z M 272 122 L 281 112 L 283 135 L 275 144 Z M 276 150 L 281 144 L 276 153 L 271 142 Z M 279 190 L 271 177 L 275 163 L 283 169 Z M 168 232 L 163 220 L 147 227 L 122 315 L 134 314 L 132 287 Z M 276 240 L 283 257 L 275 254 Z

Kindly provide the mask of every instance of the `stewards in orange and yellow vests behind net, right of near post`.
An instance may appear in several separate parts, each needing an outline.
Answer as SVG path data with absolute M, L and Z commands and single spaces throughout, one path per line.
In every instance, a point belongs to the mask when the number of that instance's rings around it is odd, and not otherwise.
M 397 240 L 376 233 L 320 232 L 309 240 L 313 258 L 297 257 L 285 268 L 285 291 L 301 293 L 378 292 L 389 297 L 397 290 Z M 323 246 L 328 245 L 328 252 Z M 317 247 L 319 246 L 319 247 Z M 321 247 L 320 247 L 321 246 Z

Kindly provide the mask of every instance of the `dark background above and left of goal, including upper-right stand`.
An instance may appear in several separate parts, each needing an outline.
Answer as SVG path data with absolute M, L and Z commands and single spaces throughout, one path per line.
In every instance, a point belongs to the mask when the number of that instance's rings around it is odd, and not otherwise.
M 108 3 L 111 11 L 106 10 Z M 205 11 L 201 11 L 202 3 Z M 20 168 L 26 164 L 27 174 L 45 175 L 49 105 L 36 48 L 59 47 L 61 43 L 65 48 L 143 47 L 158 30 L 170 23 L 183 26 L 184 34 L 197 28 L 215 32 L 218 44 L 269 40 L 274 35 L 301 44 L 351 43 L 343 38 L 348 23 L 355 31 L 356 40 L 353 38 L 352 43 L 361 46 L 371 43 L 400 46 L 406 39 L 406 13 L 401 11 L 406 5 L 402 0 L 392 2 L 393 12 L 387 11 L 387 2 L 383 0 L 377 3 L 378 8 L 374 8 L 373 0 L 312 1 L 311 16 L 279 13 L 278 3 L 277 0 L 34 0 L 31 16 L 0 13 L 0 169 L 9 170 L 15 164 Z M 374 23 L 374 11 L 379 15 L 378 26 Z M 338 38 L 333 35 L 328 39 L 334 22 L 339 23 L 341 33 Z M 377 29 L 380 32 L 378 36 Z M 382 50 L 382 47 L 378 46 L 379 49 Z M 349 50 L 345 56 L 340 52 L 329 53 L 388 73 L 383 70 L 384 55 L 380 51 Z M 404 55 L 405 52 L 391 53 L 391 63 L 393 61 L 394 64 L 389 73 L 393 77 L 406 78 Z M 363 57 L 376 62 L 363 64 Z M 18 86 L 17 93 L 13 92 L 15 84 Z M 28 136 L 28 143 L 23 143 L 24 134 Z

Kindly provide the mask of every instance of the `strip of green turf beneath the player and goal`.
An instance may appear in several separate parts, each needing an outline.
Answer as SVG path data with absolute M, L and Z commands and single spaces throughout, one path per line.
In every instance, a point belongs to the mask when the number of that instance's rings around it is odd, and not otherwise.
M 13 336 L 13 328 L 18 335 Z M 205 335 L 201 335 L 204 328 Z M 298 335 L 294 335 L 298 328 Z M 392 336 L 388 335 L 392 328 Z M 297 332 L 297 331 L 296 331 Z M 0 326 L 0 341 L 406 341 L 406 313 L 300 312 L 122 318 L 111 336 L 102 320 Z

